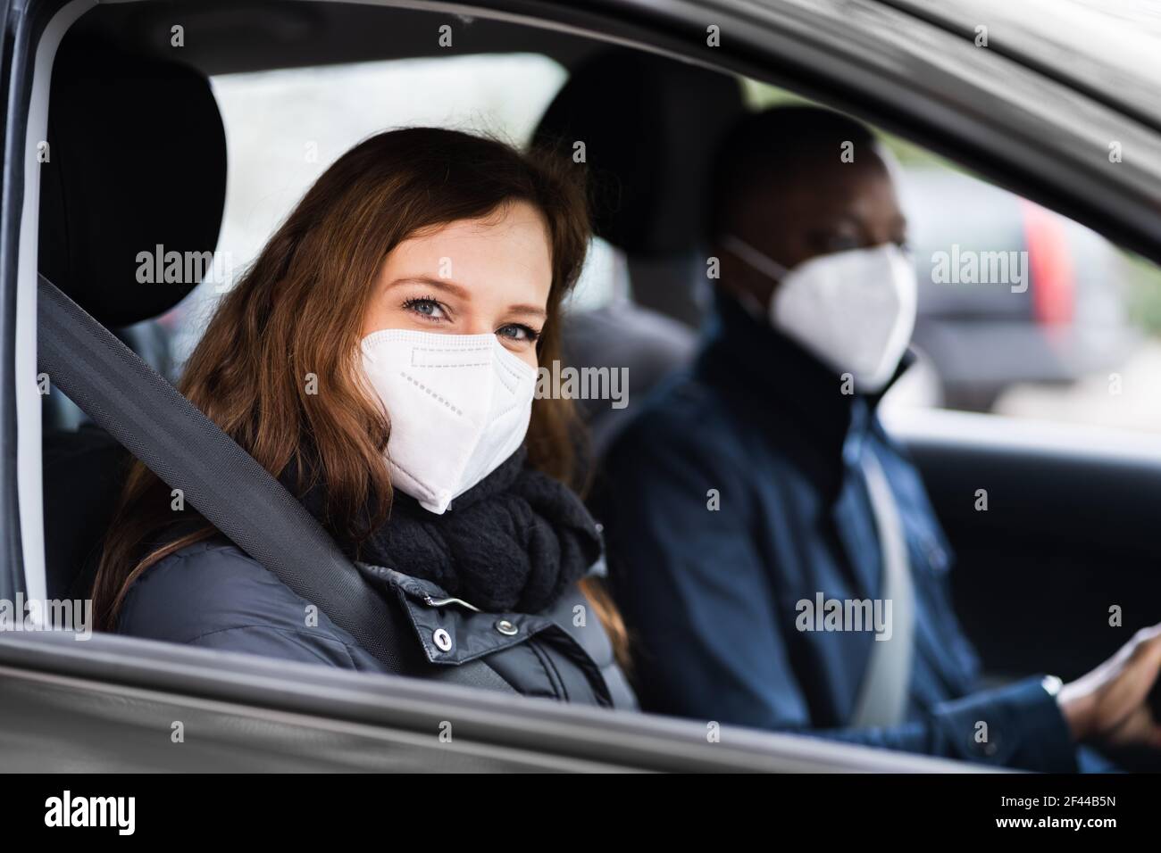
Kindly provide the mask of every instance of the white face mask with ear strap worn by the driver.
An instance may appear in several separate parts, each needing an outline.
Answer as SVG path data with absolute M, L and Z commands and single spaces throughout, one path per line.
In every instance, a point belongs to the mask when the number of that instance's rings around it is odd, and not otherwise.
M 915 330 L 918 283 L 893 243 L 820 255 L 786 269 L 733 234 L 721 240 L 749 266 L 779 282 L 769 320 L 863 393 L 894 375 Z

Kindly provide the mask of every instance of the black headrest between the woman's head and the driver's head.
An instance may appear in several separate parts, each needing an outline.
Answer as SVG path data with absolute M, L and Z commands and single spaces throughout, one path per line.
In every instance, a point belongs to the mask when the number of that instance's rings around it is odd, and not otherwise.
M 712 156 L 742 110 L 726 74 L 615 49 L 576 70 L 533 140 L 570 157 L 584 143 L 600 237 L 630 254 L 675 254 L 702 233 Z

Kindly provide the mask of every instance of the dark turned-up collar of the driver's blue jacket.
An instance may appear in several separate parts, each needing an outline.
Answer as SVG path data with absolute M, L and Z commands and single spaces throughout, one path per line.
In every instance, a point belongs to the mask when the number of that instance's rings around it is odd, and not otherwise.
M 820 450 L 850 457 L 871 429 L 882 396 L 914 361 L 914 353 L 906 353 L 874 395 L 844 395 L 828 366 L 719 289 L 695 370 L 731 395 L 742 395 L 753 417 L 791 421 Z

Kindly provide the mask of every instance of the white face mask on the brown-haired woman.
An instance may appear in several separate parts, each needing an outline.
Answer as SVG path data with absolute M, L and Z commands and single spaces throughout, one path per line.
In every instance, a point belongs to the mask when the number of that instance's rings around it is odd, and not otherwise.
M 495 334 L 387 328 L 363 338 L 362 364 L 391 421 L 392 483 L 430 512 L 442 514 L 524 443 L 536 370 Z

